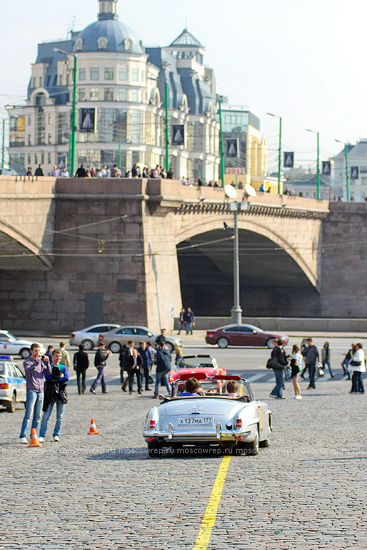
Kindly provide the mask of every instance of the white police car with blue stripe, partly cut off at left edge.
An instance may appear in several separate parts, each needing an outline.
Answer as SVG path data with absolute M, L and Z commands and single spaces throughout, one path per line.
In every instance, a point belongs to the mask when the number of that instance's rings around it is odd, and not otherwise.
M 17 403 L 25 403 L 25 377 L 11 355 L 0 355 L 0 405 L 15 412 Z

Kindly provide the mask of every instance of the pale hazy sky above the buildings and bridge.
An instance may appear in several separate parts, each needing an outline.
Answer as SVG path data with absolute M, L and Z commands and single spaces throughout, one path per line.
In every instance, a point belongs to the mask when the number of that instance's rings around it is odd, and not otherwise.
M 0 34 L 0 116 L 20 104 L 36 45 L 65 39 L 74 24 L 96 20 L 97 0 L 17 0 L 3 11 Z M 261 113 L 275 169 L 282 116 L 284 151 L 295 165 L 315 167 L 316 135 L 321 158 L 339 153 L 335 139 L 367 137 L 366 20 L 361 0 L 120 0 L 120 21 L 148 45 L 168 45 L 187 27 L 205 45 L 205 65 L 216 73 L 218 91 L 230 104 Z M 74 21 L 74 23 L 73 23 Z

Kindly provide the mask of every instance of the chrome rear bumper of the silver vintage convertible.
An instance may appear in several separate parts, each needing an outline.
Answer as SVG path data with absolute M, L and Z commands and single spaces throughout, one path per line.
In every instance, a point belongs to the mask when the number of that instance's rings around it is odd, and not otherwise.
M 241 430 L 221 430 L 219 424 L 213 430 L 190 430 L 189 432 L 182 432 L 180 430 L 174 430 L 173 425 L 169 427 L 169 430 L 146 430 L 143 432 L 145 441 L 149 438 L 151 441 L 165 441 L 170 445 L 171 443 L 219 443 L 230 441 L 253 441 L 255 438 L 255 425 L 246 426 Z

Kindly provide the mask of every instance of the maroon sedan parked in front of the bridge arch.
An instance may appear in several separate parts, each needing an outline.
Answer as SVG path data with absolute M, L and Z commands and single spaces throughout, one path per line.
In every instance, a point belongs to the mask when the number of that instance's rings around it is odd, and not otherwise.
M 265 332 L 253 325 L 226 325 L 213 331 L 207 331 L 207 344 L 218 344 L 220 348 L 228 346 L 260 346 L 273 348 L 274 338 L 288 344 L 288 336 L 277 332 Z

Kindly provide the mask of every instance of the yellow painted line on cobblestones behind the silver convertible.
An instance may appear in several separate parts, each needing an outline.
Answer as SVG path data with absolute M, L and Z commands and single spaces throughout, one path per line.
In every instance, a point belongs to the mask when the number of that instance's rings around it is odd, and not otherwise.
M 207 509 L 205 510 L 204 519 L 202 520 L 198 538 L 196 539 L 193 550 L 207 550 L 211 537 L 211 531 L 213 531 L 214 523 L 216 522 L 217 510 L 220 503 L 220 497 L 222 496 L 222 489 L 230 461 L 231 456 L 224 456 L 224 459 L 220 464 L 216 482 L 214 483 L 214 487 L 209 498 L 209 503 L 207 505 Z

